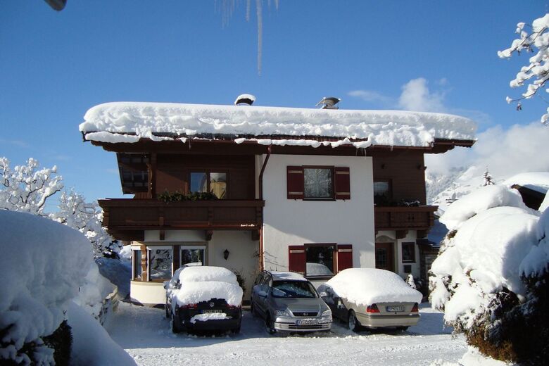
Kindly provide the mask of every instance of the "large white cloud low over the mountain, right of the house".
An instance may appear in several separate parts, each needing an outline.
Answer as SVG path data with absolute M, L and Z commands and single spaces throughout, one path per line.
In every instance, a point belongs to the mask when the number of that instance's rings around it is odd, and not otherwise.
M 513 125 L 505 130 L 500 125 L 478 134 L 471 149 L 455 148 L 444 154 L 427 154 L 429 171 L 446 173 L 450 168 L 475 166 L 481 175 L 488 167 L 494 179 L 500 180 L 519 172 L 549 172 L 549 128 L 539 122 Z

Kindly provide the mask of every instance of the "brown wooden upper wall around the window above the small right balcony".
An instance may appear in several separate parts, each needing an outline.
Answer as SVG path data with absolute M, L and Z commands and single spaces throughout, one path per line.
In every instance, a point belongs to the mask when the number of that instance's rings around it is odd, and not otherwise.
M 372 153 L 374 181 L 389 180 L 393 201 L 415 201 L 425 205 L 423 151 L 394 150 Z

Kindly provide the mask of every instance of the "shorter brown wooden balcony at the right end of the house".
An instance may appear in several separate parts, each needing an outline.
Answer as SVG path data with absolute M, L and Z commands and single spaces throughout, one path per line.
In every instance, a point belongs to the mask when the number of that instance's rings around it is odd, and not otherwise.
M 434 224 L 434 212 L 438 206 L 374 207 L 376 232 L 381 230 L 424 230 Z

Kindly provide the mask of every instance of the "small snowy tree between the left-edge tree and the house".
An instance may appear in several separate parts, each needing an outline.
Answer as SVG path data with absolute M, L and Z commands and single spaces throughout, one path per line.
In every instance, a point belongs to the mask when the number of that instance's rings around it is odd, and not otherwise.
M 96 202 L 86 202 L 74 190 L 63 191 L 58 211 L 51 214 L 51 218 L 86 235 L 92 243 L 96 258 L 113 258 L 118 255 L 121 245 L 101 226 L 103 211 Z

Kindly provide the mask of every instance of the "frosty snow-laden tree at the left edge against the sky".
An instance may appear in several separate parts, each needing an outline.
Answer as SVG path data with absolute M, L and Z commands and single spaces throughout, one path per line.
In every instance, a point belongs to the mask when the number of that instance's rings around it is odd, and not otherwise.
M 0 208 L 35 215 L 44 213 L 46 200 L 63 189 L 63 177 L 57 167 L 38 168 L 38 160 L 29 158 L 27 165 L 13 170 L 5 157 L 0 157 Z

